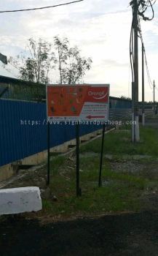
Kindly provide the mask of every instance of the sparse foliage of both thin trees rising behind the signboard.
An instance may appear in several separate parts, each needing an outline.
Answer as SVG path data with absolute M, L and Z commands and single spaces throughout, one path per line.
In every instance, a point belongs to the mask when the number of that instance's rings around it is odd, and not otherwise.
M 27 56 L 20 53 L 16 58 L 10 57 L 9 63 L 19 70 L 21 79 L 35 83 L 49 83 L 55 67 L 59 71 L 58 83 L 80 83 L 92 64 L 92 59 L 80 55 L 79 48 L 70 47 L 67 38 L 54 37 L 52 44 L 31 38 L 27 49 Z

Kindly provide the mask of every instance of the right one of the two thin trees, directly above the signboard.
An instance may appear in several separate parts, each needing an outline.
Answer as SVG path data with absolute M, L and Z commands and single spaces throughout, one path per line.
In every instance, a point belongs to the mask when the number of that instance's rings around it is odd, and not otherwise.
M 70 48 L 67 38 L 62 40 L 59 37 L 55 37 L 54 43 L 58 51 L 60 83 L 79 83 L 86 71 L 90 69 L 92 59 L 80 56 L 80 51 L 77 47 Z

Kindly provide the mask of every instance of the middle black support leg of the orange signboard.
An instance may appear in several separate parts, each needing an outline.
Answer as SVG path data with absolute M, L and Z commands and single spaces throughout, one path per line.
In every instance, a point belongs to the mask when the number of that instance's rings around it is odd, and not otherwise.
M 79 124 L 76 124 L 76 196 L 82 195 L 79 187 Z

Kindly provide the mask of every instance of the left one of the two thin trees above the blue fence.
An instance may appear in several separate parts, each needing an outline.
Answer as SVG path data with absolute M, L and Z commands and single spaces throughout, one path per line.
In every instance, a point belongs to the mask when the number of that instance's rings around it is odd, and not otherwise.
M 20 72 L 20 78 L 35 83 L 48 83 L 51 69 L 55 68 L 55 53 L 52 45 L 42 39 L 36 42 L 28 39 L 29 57 L 24 53 L 15 59 L 10 57 L 9 63 Z

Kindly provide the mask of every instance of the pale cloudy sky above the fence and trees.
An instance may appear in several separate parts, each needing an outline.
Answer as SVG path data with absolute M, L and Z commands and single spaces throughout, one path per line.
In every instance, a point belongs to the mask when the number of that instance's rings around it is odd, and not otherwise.
M 5 0 L 1 1 L 0 10 L 42 7 L 65 2 L 66 0 Z M 158 2 L 154 5 L 154 11 L 154 20 L 142 21 L 142 31 L 151 80 L 155 80 L 158 87 Z M 72 46 L 77 45 L 82 50 L 83 56 L 92 58 L 92 69 L 87 72 L 85 83 L 110 83 L 111 96 L 129 97 L 131 20 L 128 0 L 84 0 L 50 10 L 1 13 L 0 52 L 7 56 L 16 56 L 25 50 L 27 39 L 30 37 L 42 37 L 50 42 L 55 35 L 68 37 Z M 12 67 L 9 67 L 12 72 L 7 72 L 1 66 L 0 64 L 1 75 L 17 75 Z M 145 86 L 146 100 L 151 100 L 153 92 L 147 79 Z M 141 100 L 141 78 L 139 92 Z M 158 100 L 158 91 L 156 99 Z

